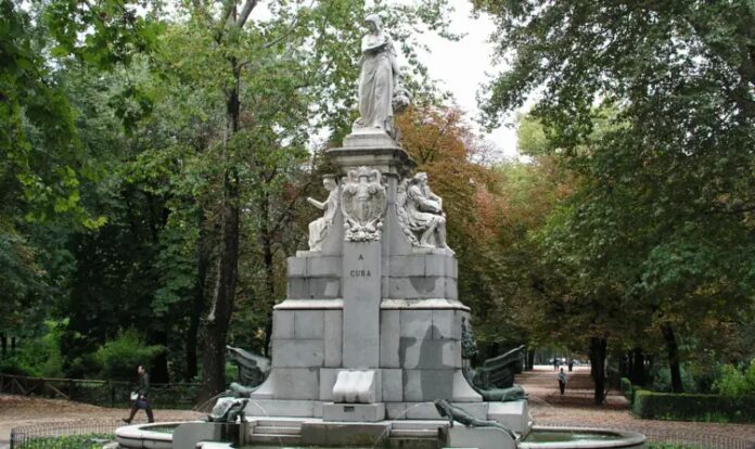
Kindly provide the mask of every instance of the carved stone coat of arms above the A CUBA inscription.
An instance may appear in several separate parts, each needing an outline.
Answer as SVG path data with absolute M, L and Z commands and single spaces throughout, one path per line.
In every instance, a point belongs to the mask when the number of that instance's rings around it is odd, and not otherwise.
M 385 213 L 385 187 L 380 170 L 359 167 L 348 171 L 341 193 L 345 238 L 348 242 L 380 240 Z

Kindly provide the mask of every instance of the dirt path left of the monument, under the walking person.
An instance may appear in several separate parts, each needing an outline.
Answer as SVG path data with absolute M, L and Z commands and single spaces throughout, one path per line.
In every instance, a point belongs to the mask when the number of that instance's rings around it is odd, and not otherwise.
M 154 413 L 156 421 L 189 421 L 206 415 L 190 410 L 157 409 Z M 127 415 L 126 407 L 108 409 L 68 400 L 0 395 L 0 449 L 9 444 L 13 427 L 66 421 L 113 422 Z M 137 413 L 135 422 L 146 422 L 143 411 Z

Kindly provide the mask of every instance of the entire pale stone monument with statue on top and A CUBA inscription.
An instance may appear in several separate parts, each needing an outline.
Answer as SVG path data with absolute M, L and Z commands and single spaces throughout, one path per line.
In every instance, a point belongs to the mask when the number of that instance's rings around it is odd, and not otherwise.
M 245 414 L 322 426 L 439 420 L 434 401 L 446 400 L 478 422 L 525 433 L 526 401 L 485 402 L 463 374 L 470 309 L 458 297 L 443 198 L 394 140 L 395 52 L 380 18 L 366 22 L 360 118 L 328 152 L 340 170 L 337 183 L 324 181 L 328 200 L 308 198 L 325 214 L 309 227 L 310 249 L 287 260 L 272 368 Z

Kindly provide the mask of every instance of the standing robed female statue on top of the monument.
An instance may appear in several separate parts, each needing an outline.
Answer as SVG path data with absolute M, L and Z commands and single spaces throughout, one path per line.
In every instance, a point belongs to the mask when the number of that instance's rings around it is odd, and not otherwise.
M 370 33 L 362 37 L 361 73 L 359 75 L 359 115 L 354 128 L 378 128 L 394 136 L 394 90 L 398 80 L 398 63 L 393 40 L 376 14 L 364 17 Z

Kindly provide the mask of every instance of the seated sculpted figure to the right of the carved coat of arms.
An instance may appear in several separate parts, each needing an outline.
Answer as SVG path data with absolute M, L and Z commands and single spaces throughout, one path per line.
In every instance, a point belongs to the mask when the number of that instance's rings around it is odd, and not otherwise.
M 427 174 L 419 172 L 407 188 L 409 229 L 419 233 L 419 245 L 450 249 L 446 244 L 446 214 L 443 198 L 430 190 Z

